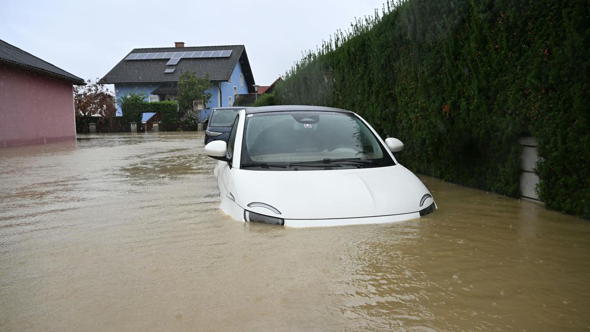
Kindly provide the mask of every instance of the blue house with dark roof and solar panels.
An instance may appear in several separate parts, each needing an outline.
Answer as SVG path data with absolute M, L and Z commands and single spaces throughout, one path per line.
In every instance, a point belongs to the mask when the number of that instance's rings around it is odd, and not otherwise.
M 117 100 L 128 93 L 143 93 L 146 101 L 175 100 L 178 77 L 193 71 L 198 77 L 209 74 L 211 99 L 203 117 L 212 108 L 234 105 L 235 96 L 254 93 L 254 77 L 244 45 L 134 48 L 99 83 L 114 84 Z M 122 115 L 117 105 L 117 115 Z M 144 114 L 144 122 L 153 113 Z

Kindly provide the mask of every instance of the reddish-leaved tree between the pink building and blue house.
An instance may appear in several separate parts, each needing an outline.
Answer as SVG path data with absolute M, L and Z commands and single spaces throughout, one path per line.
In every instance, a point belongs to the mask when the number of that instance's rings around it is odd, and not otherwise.
M 91 116 L 98 117 L 97 123 L 110 121 L 116 115 L 114 96 L 96 80 L 87 80 L 86 85 L 74 86 L 74 112 L 76 122 L 81 123 L 84 132 L 88 131 Z

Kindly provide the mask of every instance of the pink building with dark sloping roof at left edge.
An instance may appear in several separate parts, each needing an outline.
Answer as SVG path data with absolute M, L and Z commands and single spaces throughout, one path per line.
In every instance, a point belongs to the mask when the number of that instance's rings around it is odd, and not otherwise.
M 0 40 L 0 147 L 76 139 L 80 77 Z

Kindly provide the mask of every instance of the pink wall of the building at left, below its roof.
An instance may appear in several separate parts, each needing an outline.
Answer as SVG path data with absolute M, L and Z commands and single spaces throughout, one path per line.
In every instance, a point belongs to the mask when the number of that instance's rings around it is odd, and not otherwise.
M 0 66 L 0 147 L 76 139 L 72 83 Z

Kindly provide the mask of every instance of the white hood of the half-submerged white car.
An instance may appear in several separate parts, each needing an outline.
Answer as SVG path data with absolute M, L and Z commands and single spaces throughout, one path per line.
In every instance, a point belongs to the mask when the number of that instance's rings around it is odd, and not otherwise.
M 261 171 L 232 169 L 230 192 L 242 208 L 283 219 L 336 219 L 417 212 L 433 198 L 402 165 L 346 170 Z M 248 207 L 258 202 L 266 207 Z

